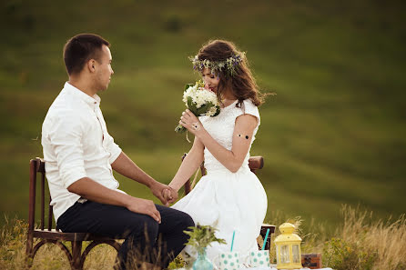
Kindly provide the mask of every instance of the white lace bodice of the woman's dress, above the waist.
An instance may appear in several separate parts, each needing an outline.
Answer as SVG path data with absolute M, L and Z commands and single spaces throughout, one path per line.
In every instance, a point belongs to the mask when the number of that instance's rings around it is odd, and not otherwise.
M 236 100 L 233 104 L 222 108 L 220 114 L 215 117 L 199 117 L 200 122 L 208 131 L 208 133 L 218 142 L 218 144 L 224 146 L 228 150 L 231 150 L 232 147 L 232 135 L 234 132 L 234 126 L 236 124 L 236 118 L 239 115 L 254 115 L 258 118 L 258 122 L 260 124 L 259 110 L 256 105 L 254 105 L 250 100 L 247 99 L 244 100 L 241 107 L 237 107 L 237 102 L 238 101 Z M 255 135 L 257 134 L 259 124 L 254 130 L 251 145 L 255 140 Z M 251 145 L 249 145 L 249 150 L 251 148 Z M 204 150 L 204 158 L 205 167 L 208 170 L 208 173 L 218 170 L 228 171 L 228 169 L 224 165 L 219 163 L 218 160 L 213 155 L 211 155 L 207 148 L 205 148 Z M 243 164 L 239 168 L 239 171 L 247 169 L 249 170 L 249 152 L 247 153 Z

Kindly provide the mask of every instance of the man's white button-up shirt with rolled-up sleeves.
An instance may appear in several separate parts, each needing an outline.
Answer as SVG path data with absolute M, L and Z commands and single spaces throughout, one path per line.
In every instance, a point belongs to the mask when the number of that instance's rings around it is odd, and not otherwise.
M 107 133 L 100 101 L 66 82 L 46 114 L 41 143 L 56 221 L 79 199 L 67 190 L 77 180 L 89 177 L 117 190 L 111 164 L 121 149 Z

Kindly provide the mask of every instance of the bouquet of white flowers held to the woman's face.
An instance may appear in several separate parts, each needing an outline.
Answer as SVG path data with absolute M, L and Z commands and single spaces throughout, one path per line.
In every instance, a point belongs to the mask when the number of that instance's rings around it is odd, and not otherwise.
M 204 83 L 200 80 L 195 85 L 188 84 L 185 86 L 183 93 L 183 102 L 188 109 L 196 116 L 217 116 L 220 113 L 217 95 L 205 88 Z M 186 127 L 178 125 L 175 128 L 177 133 L 184 133 Z

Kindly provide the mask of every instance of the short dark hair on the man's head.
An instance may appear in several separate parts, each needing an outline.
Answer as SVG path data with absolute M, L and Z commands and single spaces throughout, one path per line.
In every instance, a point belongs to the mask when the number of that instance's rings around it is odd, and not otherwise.
M 108 41 L 100 35 L 79 34 L 70 38 L 64 46 L 67 74 L 78 74 L 88 60 L 98 60 L 103 45 L 110 46 Z

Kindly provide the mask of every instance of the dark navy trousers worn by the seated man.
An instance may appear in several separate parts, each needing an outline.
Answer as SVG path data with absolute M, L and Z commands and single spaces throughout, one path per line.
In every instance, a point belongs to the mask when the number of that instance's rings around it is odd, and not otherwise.
M 117 254 L 116 269 L 136 269 L 135 264 L 139 262 L 167 267 L 188 241 L 183 231 L 195 224 L 184 212 L 156 206 L 161 224 L 149 215 L 137 214 L 125 207 L 76 202 L 58 218 L 57 227 L 64 233 L 125 238 Z

